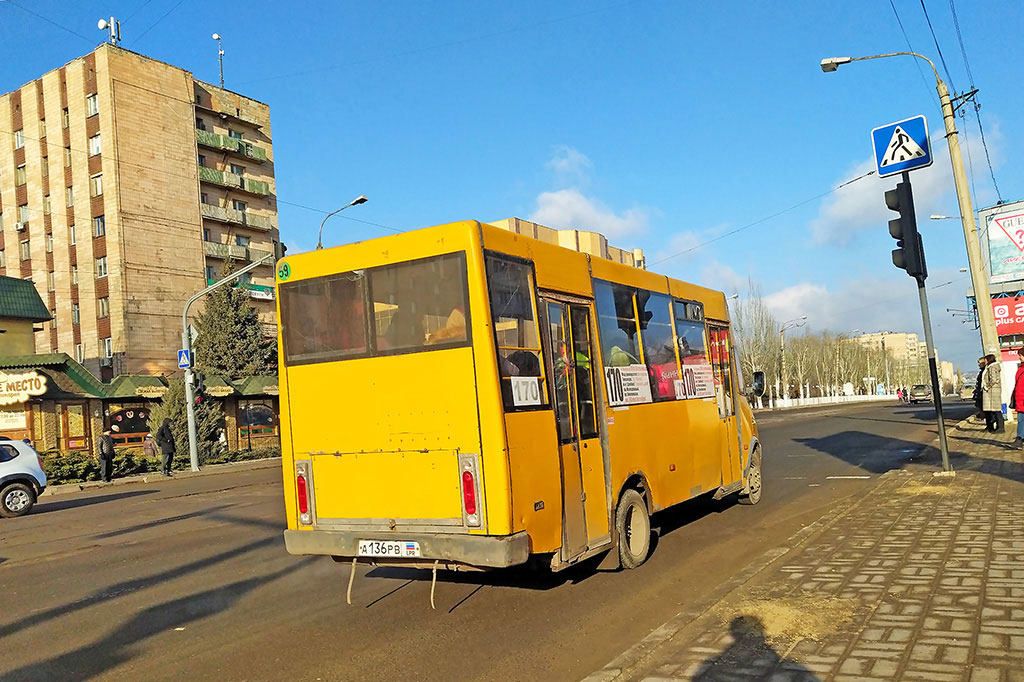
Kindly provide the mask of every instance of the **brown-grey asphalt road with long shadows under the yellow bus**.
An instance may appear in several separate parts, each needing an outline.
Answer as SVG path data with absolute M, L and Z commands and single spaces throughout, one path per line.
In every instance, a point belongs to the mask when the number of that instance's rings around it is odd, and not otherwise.
M 442 572 L 437 610 L 429 571 L 360 567 L 349 606 L 347 566 L 287 554 L 276 467 L 44 497 L 0 519 L 0 680 L 578 680 L 879 474 L 935 466 L 930 407 L 759 423 L 760 505 L 656 516 L 636 570 Z

